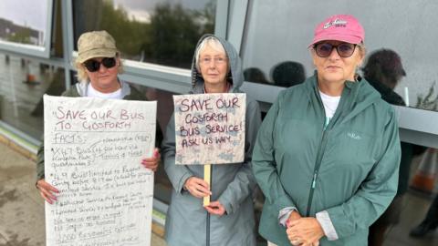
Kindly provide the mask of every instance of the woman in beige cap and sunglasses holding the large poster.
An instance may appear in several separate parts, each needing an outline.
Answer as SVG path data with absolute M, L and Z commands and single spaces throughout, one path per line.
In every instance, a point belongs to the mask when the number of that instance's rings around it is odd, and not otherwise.
M 65 91 L 63 97 L 99 97 L 105 99 L 147 100 L 136 88 L 118 78 L 122 72 L 120 52 L 116 41 L 106 31 L 88 32 L 79 36 L 78 58 L 76 59 L 80 83 Z M 157 128 L 156 146 L 161 145 L 162 132 Z M 154 149 L 152 157 L 142 159 L 141 164 L 155 171 L 160 153 Z M 38 149 L 36 188 L 41 197 L 49 203 L 57 200 L 59 192 L 46 182 L 44 176 L 44 143 Z

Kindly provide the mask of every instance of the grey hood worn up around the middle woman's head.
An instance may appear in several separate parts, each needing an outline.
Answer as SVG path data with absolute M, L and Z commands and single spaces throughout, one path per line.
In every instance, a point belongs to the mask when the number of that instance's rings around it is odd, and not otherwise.
M 204 35 L 202 36 L 198 44 L 196 44 L 196 50 L 198 46 L 203 42 L 203 39 L 214 36 L 214 35 Z M 226 53 L 226 56 L 228 57 L 228 65 L 230 66 L 230 72 L 227 75 L 228 82 L 232 83 L 232 87 L 230 88 L 230 92 L 240 92 L 239 88 L 244 83 L 244 74 L 242 73 L 242 60 L 240 59 L 239 54 L 237 53 L 237 50 L 235 50 L 235 46 L 230 44 L 228 41 L 224 40 L 223 38 L 219 36 L 214 36 L 221 42 L 222 46 L 224 46 L 224 50 Z M 196 52 L 195 52 L 196 53 Z M 193 55 L 192 60 L 192 93 L 198 94 L 203 93 L 203 77 L 201 76 L 201 73 L 196 69 L 196 54 Z

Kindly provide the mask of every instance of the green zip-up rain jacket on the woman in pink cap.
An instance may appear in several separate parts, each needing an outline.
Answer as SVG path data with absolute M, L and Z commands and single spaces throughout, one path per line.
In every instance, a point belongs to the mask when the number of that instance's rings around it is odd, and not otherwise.
M 327 210 L 338 240 L 320 245 L 367 245 L 368 228 L 397 190 L 400 140 L 393 108 L 369 83 L 346 81 L 339 107 L 324 127 L 317 76 L 282 91 L 255 142 L 253 170 L 266 195 L 259 232 L 290 245 L 278 213 Z

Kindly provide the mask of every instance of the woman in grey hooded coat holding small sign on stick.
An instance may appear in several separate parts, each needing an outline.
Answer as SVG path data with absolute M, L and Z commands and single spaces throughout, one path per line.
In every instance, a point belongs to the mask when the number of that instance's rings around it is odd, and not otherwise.
M 241 59 L 227 41 L 201 37 L 192 64 L 191 94 L 241 93 Z M 202 165 L 175 165 L 174 116 L 162 144 L 164 168 L 172 182 L 172 200 L 166 217 L 168 245 L 255 245 L 252 192 L 255 178 L 251 155 L 261 124 L 258 103 L 246 97 L 245 162 L 212 165 L 212 186 L 203 181 Z M 203 197 L 211 204 L 203 207 Z M 208 222 L 207 222 L 208 221 Z

